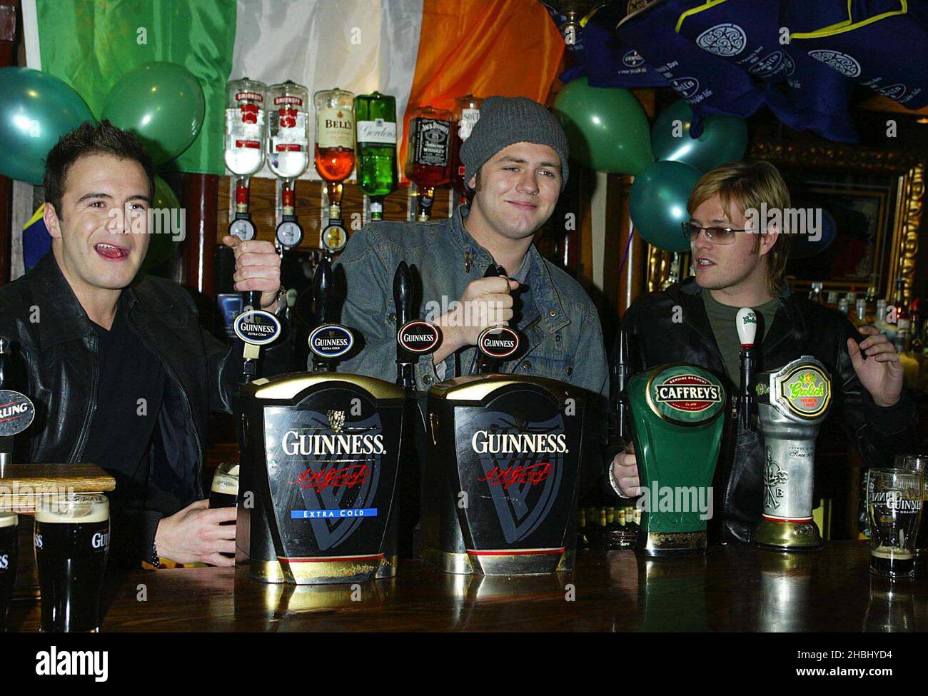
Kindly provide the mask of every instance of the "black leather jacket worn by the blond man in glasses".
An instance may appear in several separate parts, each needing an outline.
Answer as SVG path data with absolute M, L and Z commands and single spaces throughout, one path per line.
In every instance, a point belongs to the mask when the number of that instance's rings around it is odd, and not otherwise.
M 737 387 L 728 379 L 701 293 L 695 278 L 689 277 L 632 303 L 622 321 L 623 329 L 629 332 L 632 374 L 664 363 L 694 363 L 714 372 L 728 393 L 736 394 Z M 868 465 L 892 466 L 894 453 L 917 442 L 915 403 L 908 391 L 904 390 L 895 406 L 876 406 L 857 379 L 847 354 L 847 339 L 862 338 L 848 318 L 789 292 L 782 294 L 782 300 L 760 347 L 758 371 L 781 367 L 801 355 L 818 358 L 831 373 L 833 402 L 829 419 L 840 421 Z M 677 306 L 682 312 L 675 313 Z M 675 315 L 682 321 L 675 321 Z M 616 354 L 615 348 L 612 354 Z M 723 542 L 748 542 L 763 510 L 762 443 L 756 432 L 741 430 L 731 409 L 726 409 L 726 419 L 715 471 L 716 520 L 715 525 L 710 522 L 710 530 L 720 534 Z

